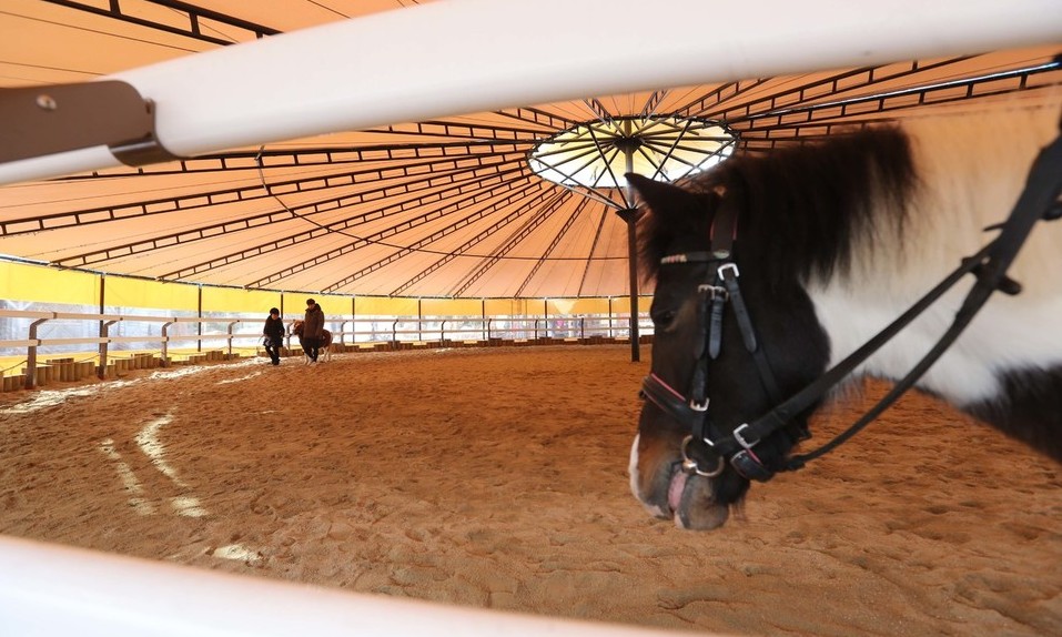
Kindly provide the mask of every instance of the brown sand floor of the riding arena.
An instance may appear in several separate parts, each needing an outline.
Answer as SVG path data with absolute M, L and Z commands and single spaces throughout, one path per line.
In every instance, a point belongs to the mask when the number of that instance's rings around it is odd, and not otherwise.
M 681 532 L 628 492 L 647 368 L 626 346 L 414 351 L 2 394 L 0 533 L 698 631 L 1062 635 L 1059 465 L 909 396 Z

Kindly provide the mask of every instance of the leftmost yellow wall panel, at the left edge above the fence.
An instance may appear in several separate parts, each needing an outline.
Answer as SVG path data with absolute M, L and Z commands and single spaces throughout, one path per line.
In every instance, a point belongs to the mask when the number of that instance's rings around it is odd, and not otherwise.
M 0 299 L 100 305 L 100 276 L 45 265 L 0 261 Z

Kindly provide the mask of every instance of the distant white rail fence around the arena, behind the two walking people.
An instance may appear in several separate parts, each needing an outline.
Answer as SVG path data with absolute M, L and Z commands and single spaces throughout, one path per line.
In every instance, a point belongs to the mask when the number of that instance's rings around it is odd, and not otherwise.
M 282 355 L 300 351 L 285 317 Z M 2 391 L 33 388 L 89 376 L 113 378 L 130 370 L 231 361 L 257 355 L 262 348 L 261 316 L 144 316 L 0 310 Z M 335 353 L 431 347 L 605 344 L 629 342 L 629 315 L 591 316 L 416 316 L 340 318 L 328 321 Z M 182 327 L 195 326 L 194 331 Z M 641 343 L 651 340 L 651 322 L 639 315 Z M 112 327 L 127 327 L 121 334 Z M 51 335 L 42 332 L 50 327 Z M 119 330 L 115 327 L 114 330 Z M 95 332 L 98 335 L 90 336 Z M 179 347 L 178 345 L 188 346 Z M 88 346 L 95 346 L 90 352 Z M 17 352 L 24 348 L 21 357 Z

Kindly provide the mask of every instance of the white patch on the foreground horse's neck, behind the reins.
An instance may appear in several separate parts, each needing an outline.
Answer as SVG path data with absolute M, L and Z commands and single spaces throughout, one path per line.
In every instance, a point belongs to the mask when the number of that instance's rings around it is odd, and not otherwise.
M 831 342 L 835 364 L 892 322 L 1007 219 L 1039 150 L 1058 134 L 1062 103 L 1041 111 L 926 118 L 912 134 L 921 188 L 903 236 L 858 242 L 851 275 L 810 281 L 808 292 Z M 1062 365 L 1062 221 L 1039 223 L 1010 276 L 1018 296 L 997 293 L 919 383 L 963 406 L 999 395 L 1008 370 Z M 872 356 L 862 372 L 902 377 L 951 324 L 969 276 Z

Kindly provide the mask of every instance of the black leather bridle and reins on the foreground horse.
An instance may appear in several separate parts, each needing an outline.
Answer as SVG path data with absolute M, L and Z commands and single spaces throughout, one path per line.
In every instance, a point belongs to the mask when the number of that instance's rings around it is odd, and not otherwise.
M 1002 224 L 987 230 L 999 230 L 1000 234 L 944 277 L 889 326 L 874 335 L 847 358 L 823 373 L 817 381 L 782 401 L 767 354 L 763 352 L 749 316 L 748 307 L 738 285 L 739 271 L 731 260 L 732 243 L 737 235 L 736 219 L 731 209 L 721 208 L 712 221 L 709 233 L 709 252 L 686 252 L 671 254 L 660 260 L 665 266 L 688 263 L 706 263 L 712 280 L 698 286 L 698 336 L 694 344 L 697 360 L 688 396 L 668 385 L 654 373 L 643 382 L 641 395 L 664 411 L 668 416 L 688 427 L 690 434 L 681 444 L 682 464 L 686 473 L 706 477 L 721 474 L 729 462 L 734 469 L 748 479 L 766 482 L 779 471 L 802 468 L 809 461 L 816 459 L 844 443 L 870 422 L 877 418 L 901 395 L 910 390 L 929 367 L 951 346 L 962 331 L 970 324 L 978 311 L 995 291 L 1018 294 L 1021 285 L 1007 275 L 1018 251 L 1021 249 L 1033 225 L 1040 220 L 1056 220 L 1062 216 L 1062 135 L 1045 146 L 1036 156 L 1025 182 L 1025 189 L 1010 216 Z M 973 274 L 977 282 L 967 294 L 955 313 L 955 318 L 935 345 L 916 364 L 908 374 L 898 381 L 893 388 L 870 411 L 829 443 L 813 452 L 789 457 L 781 466 L 768 467 L 753 451 L 767 436 L 790 426 L 801 412 L 818 404 L 833 387 L 840 384 L 852 371 L 881 348 L 904 326 L 917 318 L 941 295 L 950 290 L 967 274 Z M 732 431 L 720 431 L 708 415 L 707 396 L 708 363 L 719 356 L 722 335 L 724 309 L 731 303 L 738 328 L 746 351 L 752 356 L 760 383 L 770 402 L 776 406 L 752 422 L 746 422 Z M 715 466 L 704 468 L 701 463 L 690 456 L 690 446 L 704 447 L 706 455 Z

